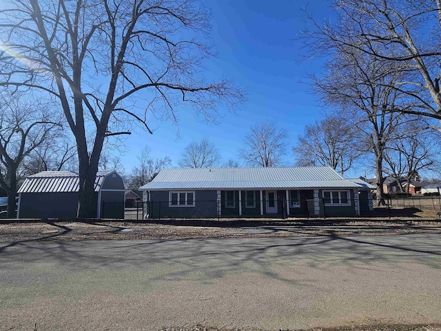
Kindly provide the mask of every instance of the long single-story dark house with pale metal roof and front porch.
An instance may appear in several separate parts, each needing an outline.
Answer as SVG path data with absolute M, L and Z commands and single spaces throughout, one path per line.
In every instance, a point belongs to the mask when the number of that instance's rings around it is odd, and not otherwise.
M 150 218 L 350 217 L 365 189 L 330 167 L 165 169 L 139 188 Z

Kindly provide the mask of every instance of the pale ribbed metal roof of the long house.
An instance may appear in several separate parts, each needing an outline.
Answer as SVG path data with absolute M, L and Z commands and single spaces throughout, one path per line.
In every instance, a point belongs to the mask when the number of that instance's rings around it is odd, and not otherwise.
M 165 169 L 139 190 L 360 188 L 331 167 Z

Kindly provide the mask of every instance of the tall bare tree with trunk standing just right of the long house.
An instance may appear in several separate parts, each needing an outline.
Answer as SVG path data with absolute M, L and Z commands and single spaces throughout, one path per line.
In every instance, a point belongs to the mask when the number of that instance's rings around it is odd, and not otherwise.
M 327 61 L 327 76 L 312 77 L 314 90 L 327 106 L 357 123 L 360 147 L 375 157 L 377 203 L 383 199 L 383 161 L 387 144 L 395 139 L 400 125 L 413 119 L 396 112 L 411 109 L 413 100 L 398 88 L 406 79 L 407 63 L 382 61 L 351 47 L 340 47 Z

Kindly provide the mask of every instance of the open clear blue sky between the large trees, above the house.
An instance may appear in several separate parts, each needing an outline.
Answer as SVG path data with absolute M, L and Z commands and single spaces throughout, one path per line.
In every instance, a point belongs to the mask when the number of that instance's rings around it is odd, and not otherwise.
M 320 74 L 323 59 L 300 61 L 307 6 L 318 21 L 332 15 L 330 1 L 223 0 L 207 1 L 212 10 L 212 42 L 218 57 L 205 63 L 210 78 L 226 77 L 247 91 L 248 101 L 236 114 L 220 109 L 219 124 L 203 123 L 194 112 L 182 108 L 177 128 L 173 123 L 150 118 L 154 134 L 138 130 L 127 139 L 129 150 L 122 157 L 126 172 L 136 165 L 136 156 L 145 146 L 151 156 L 172 159 L 177 166 L 180 154 L 192 141 L 209 139 L 223 159 L 238 160 L 238 148 L 250 126 L 270 121 L 287 130 L 285 163 L 292 165 L 291 148 L 305 124 L 320 120 L 322 109 L 311 95 L 307 74 Z M 177 133 L 179 132 L 179 137 Z M 358 175 L 358 174 L 353 174 Z

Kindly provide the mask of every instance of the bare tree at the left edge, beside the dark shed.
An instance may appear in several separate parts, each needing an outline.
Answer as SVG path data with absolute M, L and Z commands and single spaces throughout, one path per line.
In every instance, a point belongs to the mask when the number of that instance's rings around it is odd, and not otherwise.
M 23 159 L 61 128 L 50 118 L 48 108 L 37 102 L 26 105 L 19 94 L 0 95 L 0 186 L 8 194 L 9 218 L 15 217 L 17 174 Z

